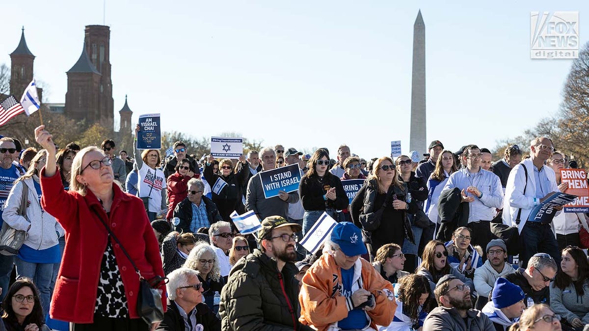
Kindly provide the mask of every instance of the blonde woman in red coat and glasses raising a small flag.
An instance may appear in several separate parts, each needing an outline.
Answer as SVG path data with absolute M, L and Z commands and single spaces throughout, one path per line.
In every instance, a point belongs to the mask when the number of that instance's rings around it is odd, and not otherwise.
M 86 147 L 75 156 L 70 190 L 65 191 L 55 166 L 52 135 L 44 129 L 44 125 L 35 129 L 37 143 L 48 148 L 47 164 L 39 176 L 41 205 L 65 229 L 51 317 L 71 322 L 74 331 L 147 330 L 149 326 L 137 314 L 139 276 L 122 250 L 124 247 L 145 279 L 164 277 L 143 201 L 113 183 L 110 158 L 96 147 Z M 166 287 L 160 289 L 165 310 Z M 153 323 L 151 330 L 158 325 Z

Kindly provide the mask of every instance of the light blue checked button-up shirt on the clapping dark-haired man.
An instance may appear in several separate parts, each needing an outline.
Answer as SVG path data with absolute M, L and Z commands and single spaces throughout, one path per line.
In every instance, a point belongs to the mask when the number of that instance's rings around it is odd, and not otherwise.
M 481 170 L 478 173 L 469 173 L 467 168 L 455 171 L 450 175 L 444 190 L 452 188 L 467 188 L 474 186 L 482 193 L 482 197 L 475 197 L 471 193 L 466 193 L 467 197 L 474 197 L 468 207 L 468 223 L 477 221 L 490 221 L 495 217 L 497 211 L 495 208 L 503 208 L 503 189 L 499 177 L 490 171 Z

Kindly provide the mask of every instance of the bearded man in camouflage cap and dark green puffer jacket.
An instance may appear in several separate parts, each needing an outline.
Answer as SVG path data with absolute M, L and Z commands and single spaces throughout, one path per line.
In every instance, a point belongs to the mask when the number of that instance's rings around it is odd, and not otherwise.
M 223 330 L 310 330 L 297 320 L 299 282 L 294 276 L 299 270 L 293 262 L 300 229 L 280 216 L 262 221 L 260 250 L 237 261 L 221 292 Z

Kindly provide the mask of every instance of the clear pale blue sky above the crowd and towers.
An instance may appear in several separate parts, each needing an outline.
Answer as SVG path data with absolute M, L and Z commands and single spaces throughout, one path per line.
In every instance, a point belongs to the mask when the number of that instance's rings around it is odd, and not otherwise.
M 102 1 L 2 5 L 0 63 L 25 26 L 35 78 L 64 102 L 65 71 Z M 427 140 L 457 150 L 495 147 L 558 111 L 571 60 L 530 59 L 530 11 L 579 11 L 589 2 L 112 1 L 115 115 L 125 94 L 163 130 L 195 137 L 239 132 L 299 149 L 346 143 L 378 157 L 409 152 L 413 22 L 426 26 Z M 588 23 L 589 24 L 589 21 Z M 333 155 L 332 155 L 333 156 Z

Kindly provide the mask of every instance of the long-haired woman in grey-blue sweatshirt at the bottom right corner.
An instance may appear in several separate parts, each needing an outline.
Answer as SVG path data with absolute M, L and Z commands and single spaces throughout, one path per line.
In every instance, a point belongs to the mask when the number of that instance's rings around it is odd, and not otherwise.
M 562 316 L 562 324 L 583 330 L 589 324 L 589 263 L 577 246 L 562 250 L 561 270 L 550 286 L 550 306 Z

